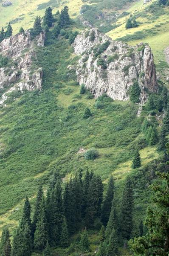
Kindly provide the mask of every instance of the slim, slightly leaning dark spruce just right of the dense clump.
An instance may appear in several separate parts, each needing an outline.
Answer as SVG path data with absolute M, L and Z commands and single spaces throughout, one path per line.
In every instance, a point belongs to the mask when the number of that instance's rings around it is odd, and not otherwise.
M 107 189 L 106 196 L 103 201 L 103 205 L 101 209 L 101 221 L 105 226 L 109 220 L 113 197 L 114 197 L 114 180 L 113 180 L 113 177 L 110 176 L 110 179 L 108 182 L 108 189 Z

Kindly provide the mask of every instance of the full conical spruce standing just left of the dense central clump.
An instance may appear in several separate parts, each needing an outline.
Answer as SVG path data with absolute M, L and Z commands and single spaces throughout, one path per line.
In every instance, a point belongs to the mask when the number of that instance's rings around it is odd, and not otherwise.
M 39 206 L 39 215 L 36 224 L 36 231 L 34 233 L 34 247 L 37 250 L 44 250 L 45 244 L 48 240 L 48 223 L 46 217 L 45 198 L 42 197 Z

